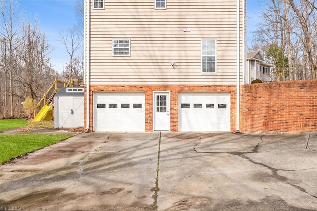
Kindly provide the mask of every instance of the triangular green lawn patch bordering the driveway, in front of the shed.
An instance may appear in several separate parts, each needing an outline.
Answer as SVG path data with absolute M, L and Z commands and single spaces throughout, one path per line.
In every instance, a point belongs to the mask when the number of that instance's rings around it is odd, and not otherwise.
M 0 163 L 65 140 L 71 136 L 54 134 L 0 134 Z

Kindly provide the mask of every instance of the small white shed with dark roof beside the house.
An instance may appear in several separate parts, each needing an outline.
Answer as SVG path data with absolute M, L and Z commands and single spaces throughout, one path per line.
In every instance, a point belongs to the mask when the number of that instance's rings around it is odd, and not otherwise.
M 84 87 L 62 87 L 54 95 L 55 128 L 84 126 Z

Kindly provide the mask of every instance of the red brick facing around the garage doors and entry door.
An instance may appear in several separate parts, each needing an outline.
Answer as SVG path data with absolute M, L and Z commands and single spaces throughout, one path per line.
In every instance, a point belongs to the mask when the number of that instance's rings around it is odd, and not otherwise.
M 178 92 L 230 92 L 230 128 L 236 132 L 236 86 L 234 85 L 91 85 L 89 131 L 93 131 L 93 93 L 94 92 L 144 92 L 145 93 L 145 131 L 153 131 L 153 92 L 170 91 L 170 131 L 178 131 Z M 86 125 L 86 86 L 84 123 Z

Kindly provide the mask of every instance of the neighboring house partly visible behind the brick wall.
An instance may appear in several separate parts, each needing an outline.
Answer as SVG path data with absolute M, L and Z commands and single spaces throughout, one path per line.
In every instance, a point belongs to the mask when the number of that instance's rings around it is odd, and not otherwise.
M 245 83 L 251 84 L 255 79 L 263 82 L 270 82 L 270 68 L 272 65 L 264 62 L 263 56 L 259 51 L 247 53 Z

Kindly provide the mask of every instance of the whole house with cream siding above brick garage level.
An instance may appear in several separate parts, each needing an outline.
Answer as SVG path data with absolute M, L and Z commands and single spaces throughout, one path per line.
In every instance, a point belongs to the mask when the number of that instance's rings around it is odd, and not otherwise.
M 245 0 L 87 0 L 84 13 L 87 130 L 239 130 Z

